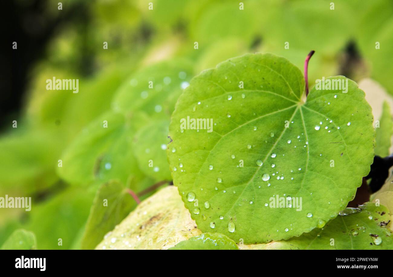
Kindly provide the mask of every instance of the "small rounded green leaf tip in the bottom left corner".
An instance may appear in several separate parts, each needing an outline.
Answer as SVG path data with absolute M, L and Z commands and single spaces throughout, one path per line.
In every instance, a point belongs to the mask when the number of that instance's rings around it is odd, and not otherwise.
M 4 242 L 1 250 L 32 250 L 36 247 L 37 242 L 34 233 L 18 229 Z

